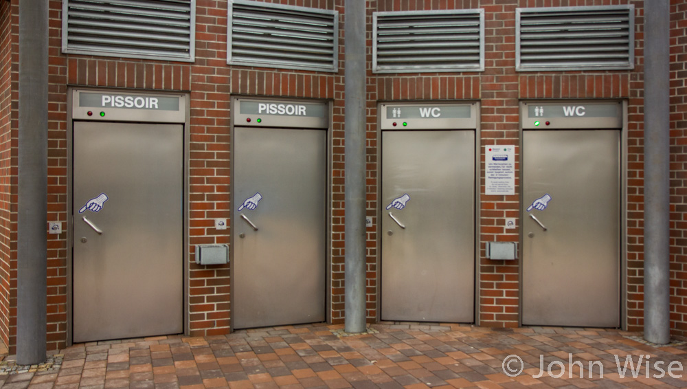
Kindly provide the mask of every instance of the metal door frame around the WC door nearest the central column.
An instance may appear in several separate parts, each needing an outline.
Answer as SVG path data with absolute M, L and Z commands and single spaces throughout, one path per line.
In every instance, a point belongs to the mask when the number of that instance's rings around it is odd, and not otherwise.
M 437 131 L 442 130 L 442 131 L 474 131 L 475 132 L 475 215 L 474 215 L 474 235 L 475 235 L 475 245 L 473 247 L 474 249 L 474 265 L 475 265 L 475 270 L 474 270 L 474 295 L 473 295 L 473 306 L 474 306 L 474 324 L 476 326 L 480 326 L 480 276 L 482 274 L 481 271 L 481 263 L 480 260 L 482 258 L 482 239 L 480 238 L 480 230 L 482 230 L 482 224 L 480 223 L 480 205 L 482 203 L 480 199 L 480 192 L 482 188 L 482 154 L 480 151 L 482 150 L 482 136 L 481 136 L 481 131 L 482 131 L 482 104 L 480 103 L 479 100 L 403 100 L 403 101 L 378 101 L 376 105 L 377 109 L 377 134 L 376 134 L 376 171 L 377 171 L 377 190 L 376 190 L 376 198 L 377 198 L 377 207 L 375 210 L 375 216 L 374 219 L 372 220 L 372 225 L 374 225 L 374 233 L 376 234 L 375 238 L 375 243 L 376 243 L 376 261 L 375 261 L 375 266 L 376 266 L 376 306 L 375 306 L 375 311 L 376 315 L 374 318 L 375 322 L 379 322 L 381 320 L 381 273 L 382 273 L 382 236 L 383 236 L 383 231 L 381 227 L 381 220 L 382 220 L 382 210 L 379 201 L 382 198 L 382 185 L 381 185 L 381 180 L 383 177 L 381 177 L 381 171 L 382 171 L 382 123 L 385 121 L 384 118 L 382 118 L 382 106 L 386 104 L 392 104 L 392 105 L 465 105 L 465 104 L 471 104 L 473 105 L 473 112 L 475 113 L 475 120 L 473 123 L 469 120 L 454 120 L 456 122 L 455 128 L 453 129 L 436 129 Z M 400 120 L 402 121 L 402 120 Z M 471 124 L 469 124 L 471 123 Z M 474 127 L 474 128 L 467 128 L 467 127 Z M 427 131 L 433 129 L 433 127 L 418 127 L 415 129 L 406 129 L 405 131 Z M 404 131 L 403 129 L 398 129 L 396 131 Z

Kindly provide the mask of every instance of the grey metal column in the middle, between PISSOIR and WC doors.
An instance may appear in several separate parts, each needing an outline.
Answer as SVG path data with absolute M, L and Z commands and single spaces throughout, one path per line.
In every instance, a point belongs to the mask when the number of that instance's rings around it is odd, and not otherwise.
M 365 1 L 346 0 L 346 332 L 365 331 Z

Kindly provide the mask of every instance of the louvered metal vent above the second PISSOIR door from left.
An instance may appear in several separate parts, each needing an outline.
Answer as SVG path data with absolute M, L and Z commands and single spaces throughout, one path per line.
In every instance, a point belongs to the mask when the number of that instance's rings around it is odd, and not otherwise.
M 229 3 L 231 65 L 337 70 L 338 12 L 260 3 Z

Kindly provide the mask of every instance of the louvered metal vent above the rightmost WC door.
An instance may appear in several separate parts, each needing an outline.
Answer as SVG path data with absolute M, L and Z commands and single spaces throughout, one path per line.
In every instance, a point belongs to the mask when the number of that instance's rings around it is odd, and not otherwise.
M 517 69 L 632 69 L 634 8 L 517 10 Z

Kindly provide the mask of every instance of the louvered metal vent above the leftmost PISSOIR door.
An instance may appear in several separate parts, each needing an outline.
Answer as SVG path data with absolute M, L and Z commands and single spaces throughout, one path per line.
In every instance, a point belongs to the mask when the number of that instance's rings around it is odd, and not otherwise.
M 194 0 L 65 0 L 63 52 L 192 61 Z

